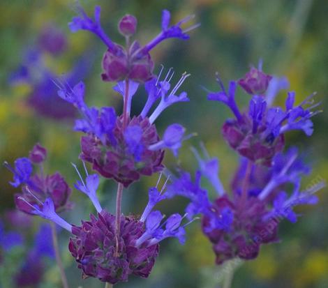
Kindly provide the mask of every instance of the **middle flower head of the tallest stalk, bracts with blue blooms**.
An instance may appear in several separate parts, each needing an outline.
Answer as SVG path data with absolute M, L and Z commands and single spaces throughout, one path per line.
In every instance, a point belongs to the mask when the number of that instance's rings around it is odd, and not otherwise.
M 117 116 L 112 107 L 88 107 L 84 103 L 83 82 L 73 88 L 58 83 L 58 95 L 77 107 L 83 117 L 75 121 L 75 130 L 86 134 L 81 138 L 80 158 L 91 162 L 93 169 L 102 176 L 113 178 L 126 187 L 142 175 L 160 172 L 163 169 L 164 149 L 172 150 L 177 156 L 181 143 L 192 136 L 185 136 L 185 128 L 177 123 L 167 127 L 163 139 L 158 136 L 154 121 L 161 112 L 174 103 L 188 101 L 186 92 L 181 92 L 179 96 L 176 94 L 189 75 L 184 73 L 170 89 L 172 69 L 162 81 L 161 73 L 155 81 L 151 79 L 145 84 L 149 97 L 138 116 L 130 115 L 132 98 L 140 86 L 137 82 L 126 80 L 114 86 L 114 91 L 124 98 L 124 114 L 121 116 Z M 161 102 L 148 116 L 158 98 Z

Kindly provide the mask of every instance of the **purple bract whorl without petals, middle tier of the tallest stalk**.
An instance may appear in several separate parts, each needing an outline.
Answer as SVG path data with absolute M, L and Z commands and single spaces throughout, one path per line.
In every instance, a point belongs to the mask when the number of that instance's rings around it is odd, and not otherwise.
M 159 140 L 156 127 L 149 123 L 147 117 L 144 119 L 141 116 L 133 117 L 126 127 L 126 130 L 139 128 L 141 131 L 140 144 L 137 146 L 126 141 L 122 121 L 122 116 L 117 117 L 112 130 L 113 137 L 107 139 L 105 144 L 93 135 L 83 136 L 80 158 L 91 162 L 93 169 L 105 178 L 113 178 L 128 187 L 140 179 L 141 175 L 150 176 L 161 171 L 164 151 L 147 149 L 148 146 Z M 131 148 L 134 149 L 131 150 Z

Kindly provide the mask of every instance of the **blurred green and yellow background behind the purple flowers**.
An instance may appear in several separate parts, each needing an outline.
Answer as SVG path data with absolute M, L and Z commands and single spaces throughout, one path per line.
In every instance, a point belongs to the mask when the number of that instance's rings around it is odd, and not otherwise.
M 318 92 L 316 99 L 322 101 L 320 109 L 324 112 L 313 119 L 313 137 L 292 132 L 287 143 L 299 146 L 313 165 L 311 176 L 304 179 L 304 187 L 318 179 L 328 179 L 326 0 L 104 0 L 80 3 L 89 15 L 96 4 L 102 6 L 103 26 L 115 41 L 123 40 L 117 32 L 117 21 L 125 13 L 137 17 L 137 38 L 141 43 L 146 43 L 158 33 L 163 8 L 172 11 L 173 22 L 195 14 L 195 21 L 202 23 L 200 28 L 191 32 L 190 40 L 169 40 L 152 52 L 157 69 L 161 63 L 166 68 L 174 68 L 175 81 L 177 75 L 184 71 L 191 73 L 183 86 L 191 102 L 170 107 L 157 121 L 160 132 L 167 124 L 179 122 L 188 131 L 198 133 L 181 150 L 179 165 L 184 169 L 195 171 L 196 162 L 189 148 L 202 139 L 210 155 L 219 158 L 221 179 L 228 187 L 238 161 L 223 142 L 219 131 L 230 113 L 219 103 L 207 102 L 202 86 L 218 90 L 214 77 L 216 71 L 224 82 L 228 82 L 242 77 L 251 63 L 256 65 L 262 58 L 265 72 L 286 75 L 290 79 L 290 89 L 296 91 L 298 103 L 313 91 Z M 88 32 L 73 34 L 68 29 L 67 23 L 75 15 L 74 6 L 75 3 L 68 0 L 0 2 L 0 162 L 13 162 L 15 158 L 27 156 L 33 144 L 40 142 L 49 150 L 47 171 L 59 170 L 70 185 L 77 179 L 70 162 L 78 162 L 80 135 L 72 132 L 72 120 L 50 119 L 33 108 L 29 99 L 35 93 L 35 85 L 16 80 L 17 75 L 22 75 L 22 71 L 17 74 L 17 69 L 26 63 L 27 54 L 38 47 L 40 33 L 45 26 L 53 25 L 63 33 L 67 42 L 61 54 L 44 52 L 41 55 L 43 66 L 60 76 L 81 65 L 82 61 L 79 77 L 87 84 L 87 103 L 121 109 L 121 97 L 112 91 L 111 84 L 100 80 L 104 45 Z M 39 83 L 42 75 L 33 81 Z M 52 93 L 50 90 L 47 92 Z M 133 109 L 136 112 L 145 99 L 144 91 L 140 89 L 134 97 Z M 284 99 L 281 94 L 276 102 L 283 103 Z M 248 103 L 248 100 L 248 96 L 239 90 L 240 105 Z M 172 156 L 165 161 L 171 169 L 177 164 Z M 4 167 L 0 171 L 1 221 L 7 232 L 18 230 L 26 239 L 23 247 L 1 252 L 2 287 L 10 288 L 15 287 L 13 282 L 10 284 L 10 273 L 13 275 L 22 268 L 24 255 L 33 246 L 33 234 L 42 220 L 33 219 L 28 229 L 8 220 L 8 212 L 14 208 L 13 194 L 17 191 L 8 185 L 12 177 L 10 172 Z M 142 213 L 147 203 L 147 190 L 155 183 L 156 176 L 131 185 L 124 192 L 124 213 Z M 115 183 L 103 181 L 100 188 L 103 206 L 114 212 Z M 213 191 L 209 193 L 214 197 Z M 257 259 L 238 268 L 232 287 L 328 287 L 327 190 L 321 190 L 318 196 L 320 203 L 317 206 L 299 209 L 299 213 L 304 215 L 295 225 L 283 222 L 281 243 L 262 247 Z M 73 201 L 75 208 L 64 217 L 78 224 L 94 210 L 87 198 L 76 190 L 73 191 Z M 161 204 L 160 208 L 167 214 L 182 213 L 184 205 L 182 199 L 174 199 Z M 70 287 L 103 287 L 103 283 L 97 280 L 81 279 L 80 271 L 66 250 L 68 234 L 59 232 L 59 236 Z M 115 287 L 217 288 L 222 273 L 224 269 L 214 265 L 211 245 L 202 236 L 199 222 L 194 222 L 188 227 L 186 245 L 179 245 L 175 239 L 161 245 L 161 253 L 147 280 L 131 277 L 130 282 Z M 54 260 L 45 260 L 38 287 L 61 287 Z

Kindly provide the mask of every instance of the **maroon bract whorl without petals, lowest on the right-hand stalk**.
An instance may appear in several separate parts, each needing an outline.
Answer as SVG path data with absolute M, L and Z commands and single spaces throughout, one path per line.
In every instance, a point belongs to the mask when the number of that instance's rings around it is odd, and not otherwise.
M 232 211 L 234 217 L 229 229 L 212 229 L 211 218 L 207 215 L 202 218 L 202 230 L 213 243 L 216 264 L 234 257 L 253 259 L 258 256 L 261 244 L 278 240 L 278 222 L 274 219 L 263 220 L 268 213 L 266 204 L 256 197 L 250 197 L 241 206 L 240 199 L 236 197 L 232 201 L 224 195 L 211 206 L 218 219 L 222 218 L 225 209 Z

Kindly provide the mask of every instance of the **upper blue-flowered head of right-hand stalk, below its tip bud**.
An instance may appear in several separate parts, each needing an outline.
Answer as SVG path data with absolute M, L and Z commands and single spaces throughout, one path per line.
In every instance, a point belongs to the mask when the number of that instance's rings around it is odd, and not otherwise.
M 283 150 L 285 132 L 303 130 L 307 136 L 313 132 L 311 117 L 318 112 L 311 109 L 317 105 L 312 103 L 313 96 L 309 96 L 300 105 L 294 106 L 295 93 L 288 93 L 286 108 L 269 107 L 262 96 L 254 95 L 248 105 L 248 110 L 241 113 L 234 100 L 236 83 L 230 82 L 229 91 L 220 79 L 221 91 L 209 93 L 209 100 L 218 100 L 232 110 L 236 119 L 228 119 L 222 127 L 224 139 L 232 149 L 241 156 L 262 165 L 271 165 L 272 158 Z

